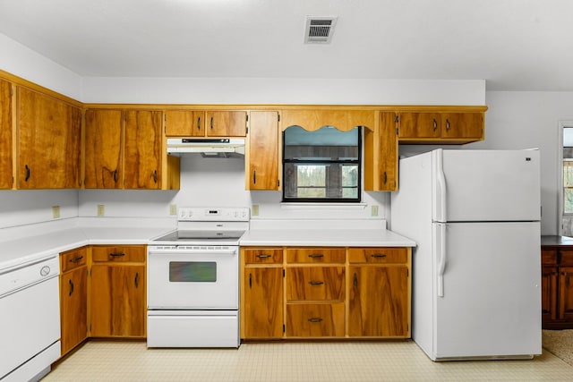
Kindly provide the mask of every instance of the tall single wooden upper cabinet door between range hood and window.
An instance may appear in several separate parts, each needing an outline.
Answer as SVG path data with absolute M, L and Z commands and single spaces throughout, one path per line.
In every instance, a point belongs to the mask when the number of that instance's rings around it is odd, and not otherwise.
M 248 190 L 278 190 L 278 112 L 251 112 Z

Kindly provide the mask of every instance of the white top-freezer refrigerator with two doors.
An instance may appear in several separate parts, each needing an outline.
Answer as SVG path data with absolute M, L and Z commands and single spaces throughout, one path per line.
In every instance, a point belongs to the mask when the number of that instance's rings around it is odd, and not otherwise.
M 412 338 L 433 361 L 541 354 L 538 150 L 399 161 L 391 230 L 416 242 Z

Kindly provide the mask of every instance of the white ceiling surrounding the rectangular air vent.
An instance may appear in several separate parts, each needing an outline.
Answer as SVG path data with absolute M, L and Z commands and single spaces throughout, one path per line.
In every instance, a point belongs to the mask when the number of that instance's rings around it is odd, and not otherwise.
M 307 15 L 338 16 L 330 44 L 304 44 Z M 0 33 L 84 77 L 573 91 L 572 15 L 571 0 L 0 0 Z

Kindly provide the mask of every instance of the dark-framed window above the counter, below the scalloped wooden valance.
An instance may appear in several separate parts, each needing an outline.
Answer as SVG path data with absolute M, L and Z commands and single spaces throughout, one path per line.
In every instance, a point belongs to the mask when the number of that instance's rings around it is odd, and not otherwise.
M 359 127 L 307 132 L 290 126 L 283 134 L 283 201 L 360 201 Z

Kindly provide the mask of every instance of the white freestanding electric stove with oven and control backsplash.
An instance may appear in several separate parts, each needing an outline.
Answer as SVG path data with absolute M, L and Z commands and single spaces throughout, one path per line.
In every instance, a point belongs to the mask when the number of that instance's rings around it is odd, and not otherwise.
M 239 239 L 248 208 L 180 208 L 148 246 L 148 347 L 239 347 Z

